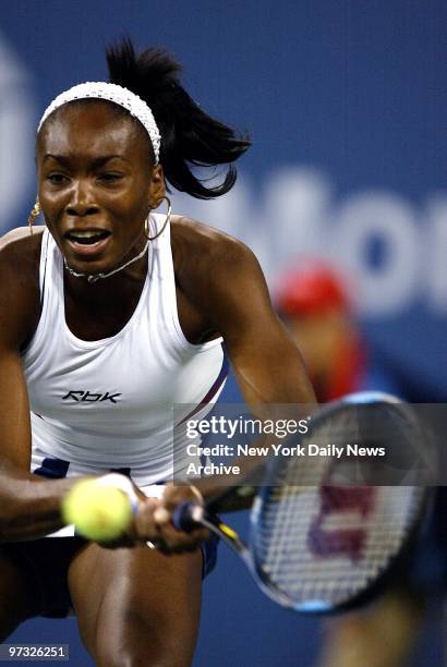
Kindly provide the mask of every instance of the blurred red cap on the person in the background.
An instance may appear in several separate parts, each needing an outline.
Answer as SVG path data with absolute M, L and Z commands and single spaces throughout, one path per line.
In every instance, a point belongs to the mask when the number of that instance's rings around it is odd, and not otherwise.
M 331 308 L 348 311 L 350 300 L 341 279 L 327 265 L 310 262 L 280 277 L 276 307 L 285 314 L 318 313 Z

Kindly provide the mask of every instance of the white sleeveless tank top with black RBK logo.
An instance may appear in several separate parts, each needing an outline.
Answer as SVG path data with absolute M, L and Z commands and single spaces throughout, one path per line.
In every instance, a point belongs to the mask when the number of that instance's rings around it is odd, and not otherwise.
M 164 220 L 152 216 L 152 235 Z M 221 338 L 194 345 L 180 328 L 169 225 L 149 244 L 138 304 L 116 336 L 85 341 L 68 328 L 63 259 L 48 230 L 40 295 L 40 320 L 22 357 L 32 470 L 47 476 L 125 470 L 138 486 L 171 478 L 172 408 L 185 404 L 177 421 L 194 407 L 202 416 L 224 388 L 228 364 Z M 185 442 L 176 438 L 176 448 L 181 456 Z

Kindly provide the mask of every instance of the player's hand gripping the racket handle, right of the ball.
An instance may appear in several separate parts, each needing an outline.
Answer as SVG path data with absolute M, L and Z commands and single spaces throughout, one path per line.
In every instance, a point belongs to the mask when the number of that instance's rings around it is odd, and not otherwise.
M 209 531 L 197 527 L 191 533 L 185 533 L 173 526 L 172 513 L 182 502 L 202 504 L 203 501 L 193 487 L 172 484 L 166 486 L 159 500 L 146 498 L 141 504 L 134 520 L 136 539 L 150 543 L 164 554 L 194 551 L 201 542 L 208 539 Z

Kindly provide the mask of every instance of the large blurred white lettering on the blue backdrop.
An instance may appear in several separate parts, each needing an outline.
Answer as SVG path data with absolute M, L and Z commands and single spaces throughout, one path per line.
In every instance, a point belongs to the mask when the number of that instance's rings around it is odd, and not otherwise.
M 421 209 L 392 192 L 364 191 L 336 201 L 330 181 L 310 168 L 278 169 L 255 196 L 241 174 L 214 202 L 174 196 L 176 210 L 244 241 L 270 286 L 300 256 L 323 256 L 348 274 L 359 314 L 398 315 L 423 301 L 447 313 L 447 193 Z M 379 260 L 372 262 L 373 246 Z

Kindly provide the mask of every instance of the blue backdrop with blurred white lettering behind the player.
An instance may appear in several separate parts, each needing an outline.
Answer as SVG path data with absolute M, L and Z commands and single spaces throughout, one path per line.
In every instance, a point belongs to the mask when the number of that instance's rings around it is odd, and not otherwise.
M 104 47 L 124 33 L 167 47 L 193 97 L 253 138 L 234 193 L 177 196 L 176 210 L 246 241 L 273 288 L 295 255 L 329 256 L 355 286 L 375 368 L 413 400 L 444 400 L 446 16 L 440 0 L 3 2 L 0 231 L 34 203 L 34 128 L 49 101 L 102 80 Z M 265 601 L 225 551 L 205 586 L 197 667 L 313 665 L 319 623 Z M 70 642 L 87 665 L 74 623 L 28 622 L 14 639 Z M 425 638 L 414 664 L 440 665 L 432 628 Z

